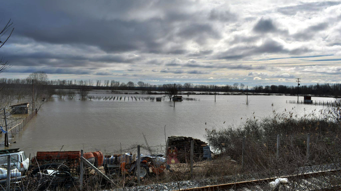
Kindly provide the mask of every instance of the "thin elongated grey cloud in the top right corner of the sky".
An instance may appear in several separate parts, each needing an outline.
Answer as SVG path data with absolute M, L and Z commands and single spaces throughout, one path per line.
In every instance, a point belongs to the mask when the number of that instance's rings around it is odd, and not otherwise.
M 277 9 L 278 12 L 284 15 L 296 15 L 297 12 L 316 12 L 326 7 L 338 5 L 340 1 L 323 1 L 323 2 L 310 2 L 301 3 L 294 6 L 284 6 Z

